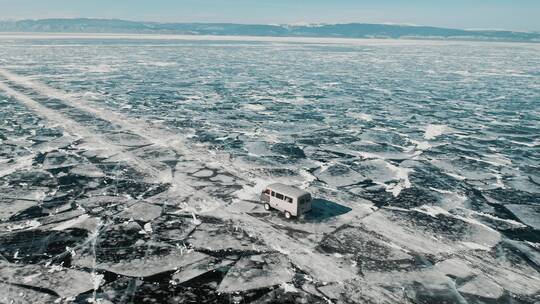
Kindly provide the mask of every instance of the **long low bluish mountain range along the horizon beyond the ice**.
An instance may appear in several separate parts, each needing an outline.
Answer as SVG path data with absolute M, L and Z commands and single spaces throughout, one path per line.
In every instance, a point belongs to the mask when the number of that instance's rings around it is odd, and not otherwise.
M 393 24 L 263 25 L 233 23 L 158 23 L 116 19 L 0 21 L 0 32 L 130 33 L 332 38 L 410 38 L 540 42 L 538 32 L 460 30 Z

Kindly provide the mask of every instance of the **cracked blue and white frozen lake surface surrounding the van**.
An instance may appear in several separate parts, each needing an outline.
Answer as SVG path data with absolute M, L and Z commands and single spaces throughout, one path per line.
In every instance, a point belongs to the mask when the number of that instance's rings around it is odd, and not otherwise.
M 539 50 L 0 39 L 0 302 L 536 303 Z

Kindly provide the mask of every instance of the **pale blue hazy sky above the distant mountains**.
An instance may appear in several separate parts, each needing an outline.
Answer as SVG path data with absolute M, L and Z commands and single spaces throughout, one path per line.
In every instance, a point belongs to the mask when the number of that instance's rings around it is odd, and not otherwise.
M 0 0 L 0 19 L 397 23 L 540 31 L 540 0 Z

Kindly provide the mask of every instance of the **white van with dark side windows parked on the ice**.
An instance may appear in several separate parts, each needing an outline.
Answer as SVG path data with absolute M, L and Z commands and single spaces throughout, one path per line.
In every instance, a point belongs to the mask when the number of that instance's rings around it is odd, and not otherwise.
M 271 184 L 261 193 L 264 209 L 283 211 L 286 218 L 299 216 L 311 210 L 311 194 L 285 184 Z

